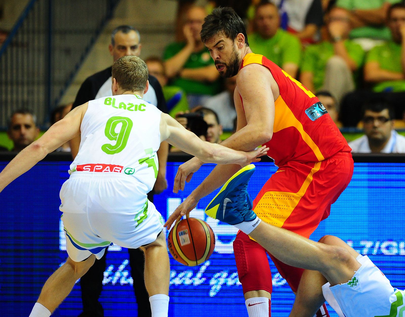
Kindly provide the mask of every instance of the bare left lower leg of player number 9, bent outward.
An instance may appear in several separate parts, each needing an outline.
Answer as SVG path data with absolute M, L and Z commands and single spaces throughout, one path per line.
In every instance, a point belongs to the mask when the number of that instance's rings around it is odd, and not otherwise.
M 72 291 L 76 281 L 94 264 L 95 259 L 94 254 L 82 262 L 75 262 L 68 257 L 66 262 L 47 279 L 37 302 L 52 313 Z M 41 315 L 37 315 L 33 310 L 30 316 Z

